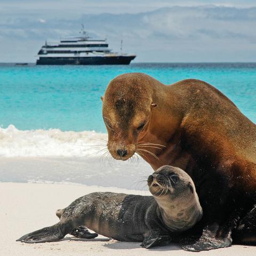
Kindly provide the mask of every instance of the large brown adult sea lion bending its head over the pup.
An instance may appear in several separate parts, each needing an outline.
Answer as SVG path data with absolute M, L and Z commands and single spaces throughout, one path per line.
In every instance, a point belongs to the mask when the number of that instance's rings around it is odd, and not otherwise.
M 115 159 L 138 153 L 154 170 L 178 166 L 195 182 L 204 216 L 183 249 L 256 244 L 256 125 L 233 102 L 197 79 L 164 85 L 142 73 L 117 76 L 101 99 Z

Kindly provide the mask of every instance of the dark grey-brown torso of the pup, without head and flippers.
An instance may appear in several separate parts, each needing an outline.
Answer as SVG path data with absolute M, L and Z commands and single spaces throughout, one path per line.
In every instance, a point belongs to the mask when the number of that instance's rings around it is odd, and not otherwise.
M 63 209 L 60 220 L 72 215 L 71 218 L 79 226 L 85 226 L 97 234 L 118 241 L 142 242 L 149 230 L 145 211 L 155 207 L 153 196 L 96 192 L 76 199 Z

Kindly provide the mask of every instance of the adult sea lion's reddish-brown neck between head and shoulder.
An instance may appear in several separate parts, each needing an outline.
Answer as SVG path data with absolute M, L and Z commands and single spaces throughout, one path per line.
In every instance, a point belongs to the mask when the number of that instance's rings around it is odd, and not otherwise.
M 161 149 L 150 148 L 156 157 L 146 155 L 143 157 L 154 170 L 159 167 L 169 164 L 187 170 L 187 165 L 190 163 L 191 157 L 187 152 L 181 149 L 182 129 L 181 123 L 184 117 L 182 108 L 177 108 L 180 105 L 180 97 L 172 86 L 161 85 L 158 90 L 154 91 L 153 103 L 157 107 L 151 110 L 149 123 L 145 131 L 141 131 L 138 141 L 145 143 L 155 143 Z

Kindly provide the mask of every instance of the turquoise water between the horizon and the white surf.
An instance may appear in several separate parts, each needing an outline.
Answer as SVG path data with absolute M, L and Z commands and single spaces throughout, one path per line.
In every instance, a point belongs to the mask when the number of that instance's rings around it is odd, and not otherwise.
M 0 125 L 18 130 L 106 132 L 101 100 L 109 81 L 143 72 L 164 84 L 202 79 L 256 122 L 256 63 L 132 63 L 130 66 L 0 65 Z

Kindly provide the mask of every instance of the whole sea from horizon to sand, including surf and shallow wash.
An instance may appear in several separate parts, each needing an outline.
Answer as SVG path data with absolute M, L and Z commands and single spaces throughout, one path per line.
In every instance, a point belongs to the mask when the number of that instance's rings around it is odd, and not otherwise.
M 141 180 L 152 173 L 149 164 L 114 161 L 102 142 L 107 134 L 100 95 L 127 72 L 144 72 L 165 84 L 202 79 L 256 122 L 256 63 L 0 65 L 0 181 L 147 188 Z

